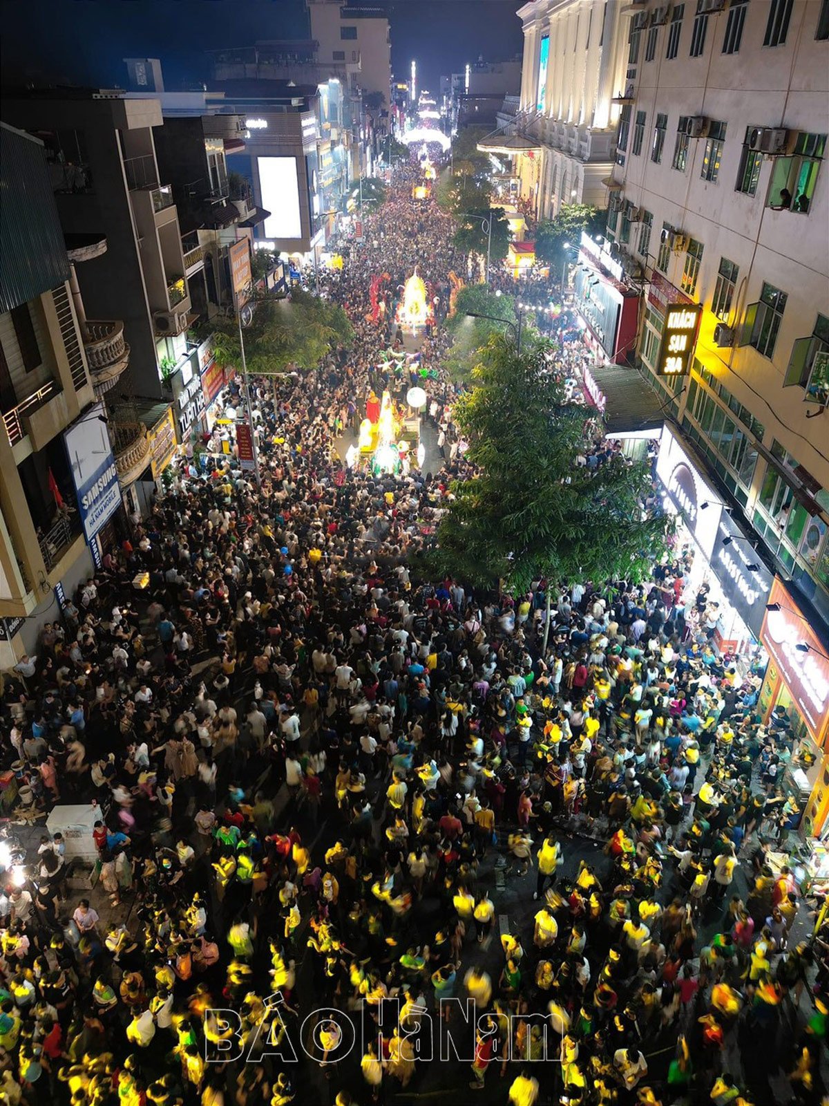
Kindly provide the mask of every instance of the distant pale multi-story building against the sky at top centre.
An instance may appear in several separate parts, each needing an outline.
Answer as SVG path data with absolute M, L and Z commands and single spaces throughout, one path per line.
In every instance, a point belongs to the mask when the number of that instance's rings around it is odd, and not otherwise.
M 307 0 L 317 64 L 358 65 L 364 92 L 379 93 L 385 106 L 391 87 L 391 39 L 381 8 L 349 8 L 342 0 Z

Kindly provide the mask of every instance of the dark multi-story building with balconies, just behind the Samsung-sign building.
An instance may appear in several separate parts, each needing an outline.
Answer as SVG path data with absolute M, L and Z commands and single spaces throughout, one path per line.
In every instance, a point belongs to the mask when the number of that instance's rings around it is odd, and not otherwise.
M 109 380 L 105 403 L 132 513 L 140 505 L 132 486 L 151 486 L 160 466 L 154 441 L 169 421 L 170 395 L 162 366 L 197 319 L 172 186 L 156 156 L 160 104 L 122 90 L 43 88 L 8 93 L 3 111 L 44 143 L 80 299 L 93 319 L 123 320 L 117 335 L 94 323 L 88 328 L 107 356 L 117 343 L 129 348 L 128 367 L 117 388 Z M 96 358 L 91 365 L 95 371 Z

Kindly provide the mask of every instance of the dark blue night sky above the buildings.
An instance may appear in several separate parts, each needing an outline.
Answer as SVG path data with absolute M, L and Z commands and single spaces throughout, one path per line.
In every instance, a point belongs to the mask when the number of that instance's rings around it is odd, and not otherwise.
M 385 8 L 391 64 L 438 91 L 441 74 L 479 54 L 501 61 L 521 52 L 521 0 L 350 0 Z M 160 58 L 165 85 L 208 79 L 203 51 L 256 39 L 304 38 L 302 0 L 0 0 L 3 80 L 123 86 L 123 58 Z

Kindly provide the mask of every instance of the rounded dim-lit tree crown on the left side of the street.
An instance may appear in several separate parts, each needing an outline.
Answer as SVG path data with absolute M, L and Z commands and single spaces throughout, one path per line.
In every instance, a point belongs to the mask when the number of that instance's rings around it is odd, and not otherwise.
M 290 300 L 266 294 L 253 301 L 253 320 L 244 328 L 249 373 L 279 375 L 293 368 L 314 368 L 335 345 L 348 345 L 351 325 L 342 307 L 308 292 L 294 290 Z M 214 320 L 217 362 L 242 367 L 235 319 Z

